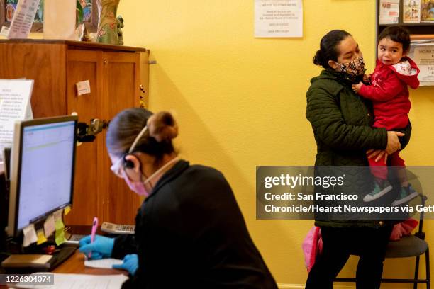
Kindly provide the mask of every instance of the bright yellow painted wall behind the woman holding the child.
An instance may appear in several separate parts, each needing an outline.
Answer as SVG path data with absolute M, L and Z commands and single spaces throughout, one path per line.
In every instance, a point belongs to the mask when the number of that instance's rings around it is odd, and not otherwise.
M 313 221 L 256 220 L 255 166 L 313 164 L 305 98 L 320 69 L 311 59 L 322 35 L 344 29 L 359 42 L 371 72 L 375 1 L 305 0 L 304 37 L 292 39 L 254 38 L 253 4 L 123 0 L 118 13 L 126 45 L 147 47 L 157 60 L 150 67 L 150 108 L 177 113 L 182 155 L 223 171 L 277 282 L 301 284 L 307 276 L 301 241 Z M 403 153 L 408 165 L 434 164 L 433 92 L 411 92 L 413 136 Z M 387 262 L 386 274 L 399 268 Z M 354 271 L 355 259 L 345 268 L 347 275 Z

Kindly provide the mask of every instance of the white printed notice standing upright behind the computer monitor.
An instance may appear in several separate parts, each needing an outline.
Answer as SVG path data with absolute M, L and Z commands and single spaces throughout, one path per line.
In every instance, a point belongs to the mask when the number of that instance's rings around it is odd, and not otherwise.
M 11 147 L 16 120 L 30 117 L 33 80 L 0 79 L 0 152 Z M 0 154 L 0 160 L 2 159 Z

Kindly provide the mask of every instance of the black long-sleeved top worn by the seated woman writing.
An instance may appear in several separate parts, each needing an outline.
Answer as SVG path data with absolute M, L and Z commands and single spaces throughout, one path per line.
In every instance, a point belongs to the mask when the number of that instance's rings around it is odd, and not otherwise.
M 138 254 L 123 288 L 277 288 L 221 172 L 181 160 L 118 237 L 114 258 Z

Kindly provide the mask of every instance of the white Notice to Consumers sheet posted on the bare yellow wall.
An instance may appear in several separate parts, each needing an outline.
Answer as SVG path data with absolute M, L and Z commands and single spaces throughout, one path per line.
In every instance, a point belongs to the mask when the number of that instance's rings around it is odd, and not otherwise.
M 303 37 L 301 0 L 255 0 L 255 37 Z

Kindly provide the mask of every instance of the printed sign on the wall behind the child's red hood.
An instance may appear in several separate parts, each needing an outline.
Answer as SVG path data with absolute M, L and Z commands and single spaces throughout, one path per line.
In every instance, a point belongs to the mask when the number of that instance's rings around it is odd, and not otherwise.
M 434 45 L 412 47 L 408 57 L 418 64 L 421 85 L 434 85 Z

